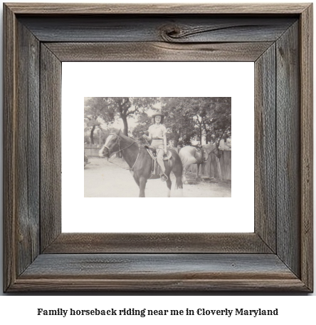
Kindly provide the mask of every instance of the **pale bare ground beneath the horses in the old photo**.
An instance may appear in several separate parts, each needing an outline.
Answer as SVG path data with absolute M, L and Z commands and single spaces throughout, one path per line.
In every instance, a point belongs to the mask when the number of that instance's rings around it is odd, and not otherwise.
M 128 170 L 127 163 L 120 158 L 89 158 L 85 166 L 85 197 L 138 197 L 138 186 Z M 199 182 L 194 174 L 186 176 L 189 184 L 184 185 L 184 197 L 231 197 L 231 182 L 218 182 L 204 178 Z M 174 190 L 172 174 L 172 197 L 181 196 Z M 166 197 L 167 185 L 161 180 L 148 180 L 146 197 Z

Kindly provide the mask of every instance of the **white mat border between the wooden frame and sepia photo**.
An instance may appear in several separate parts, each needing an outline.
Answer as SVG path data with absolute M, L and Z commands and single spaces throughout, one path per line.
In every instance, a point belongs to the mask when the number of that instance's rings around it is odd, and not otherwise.
M 253 62 L 63 63 L 63 232 L 253 232 L 253 68 Z M 83 197 L 83 98 L 94 96 L 231 97 L 232 197 L 139 199 L 136 183 L 136 197 Z

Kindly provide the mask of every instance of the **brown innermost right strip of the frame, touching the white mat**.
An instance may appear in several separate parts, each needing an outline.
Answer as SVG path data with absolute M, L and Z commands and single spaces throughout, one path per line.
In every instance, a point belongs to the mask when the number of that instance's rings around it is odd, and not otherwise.
M 275 44 L 255 64 L 255 232 L 276 252 Z

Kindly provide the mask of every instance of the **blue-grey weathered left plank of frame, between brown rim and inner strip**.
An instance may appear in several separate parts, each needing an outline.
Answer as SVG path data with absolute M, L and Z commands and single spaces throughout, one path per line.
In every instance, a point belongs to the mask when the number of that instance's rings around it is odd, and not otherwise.
M 17 274 L 37 257 L 39 247 L 39 42 L 18 24 L 17 29 L 16 177 Z

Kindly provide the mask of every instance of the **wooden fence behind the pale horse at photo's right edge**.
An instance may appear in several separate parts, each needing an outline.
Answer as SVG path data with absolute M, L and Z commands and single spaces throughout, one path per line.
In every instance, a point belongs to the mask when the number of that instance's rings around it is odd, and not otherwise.
M 196 173 L 197 165 L 191 165 L 189 171 Z M 231 180 L 231 151 L 221 150 L 221 158 L 209 155 L 205 164 L 200 165 L 200 175 L 218 180 Z

